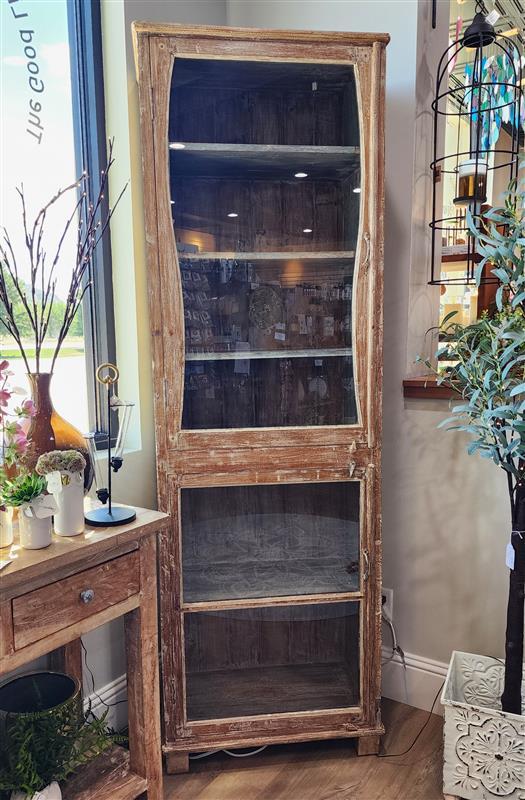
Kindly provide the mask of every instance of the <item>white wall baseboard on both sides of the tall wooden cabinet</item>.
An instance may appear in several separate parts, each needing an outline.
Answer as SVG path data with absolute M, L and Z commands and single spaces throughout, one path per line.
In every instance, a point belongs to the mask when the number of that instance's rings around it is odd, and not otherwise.
M 383 661 L 390 658 L 391 651 L 383 648 Z M 407 703 L 415 708 L 430 711 L 434 698 L 440 691 L 447 674 L 448 664 L 434 661 L 431 658 L 405 653 L 406 671 L 401 657 L 395 657 L 383 666 L 382 694 L 391 700 Z M 107 724 L 115 730 L 122 730 L 127 725 L 128 704 L 126 702 L 126 675 L 119 675 L 114 681 L 106 683 L 86 697 L 85 705 L 90 702 L 93 713 L 100 717 L 110 706 Z M 119 702 L 124 701 L 124 702 Z M 118 705 L 113 705 L 118 703 Z M 434 706 L 434 713 L 441 714 L 439 698 Z

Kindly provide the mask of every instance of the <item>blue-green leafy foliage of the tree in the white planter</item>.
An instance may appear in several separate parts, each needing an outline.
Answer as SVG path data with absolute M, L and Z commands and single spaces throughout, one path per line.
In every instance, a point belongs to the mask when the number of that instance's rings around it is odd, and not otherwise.
M 520 166 L 523 173 L 525 162 Z M 476 268 L 481 282 L 485 266 L 500 285 L 497 313 L 484 314 L 460 325 L 448 314 L 441 325 L 436 369 L 418 359 L 449 386 L 462 402 L 452 401 L 451 415 L 440 423 L 472 438 L 467 452 L 491 459 L 507 475 L 514 516 L 516 492 L 525 482 L 525 190 L 515 179 L 504 193 L 504 205 L 482 217 L 468 214 L 471 235 L 482 260 Z

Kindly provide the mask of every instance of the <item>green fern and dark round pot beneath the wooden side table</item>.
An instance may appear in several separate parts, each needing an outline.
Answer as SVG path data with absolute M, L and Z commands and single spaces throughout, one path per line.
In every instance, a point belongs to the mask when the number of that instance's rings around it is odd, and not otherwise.
M 106 712 L 107 714 L 107 712 Z M 106 714 L 83 710 L 78 681 L 35 672 L 0 686 L 0 792 L 11 800 L 60 800 L 59 784 L 107 750 Z

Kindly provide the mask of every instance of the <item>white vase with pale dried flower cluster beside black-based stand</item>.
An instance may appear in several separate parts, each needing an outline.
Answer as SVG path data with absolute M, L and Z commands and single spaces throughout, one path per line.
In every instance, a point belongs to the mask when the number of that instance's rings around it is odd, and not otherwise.
M 84 531 L 84 469 L 86 459 L 77 450 L 52 450 L 36 462 L 36 471 L 47 483 L 57 503 L 54 529 L 59 536 Z

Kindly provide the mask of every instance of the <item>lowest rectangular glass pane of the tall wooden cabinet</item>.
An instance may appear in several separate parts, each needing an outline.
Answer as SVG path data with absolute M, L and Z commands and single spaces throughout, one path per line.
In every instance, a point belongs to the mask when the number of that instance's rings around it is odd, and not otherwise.
M 359 704 L 359 603 L 185 615 L 189 720 Z

